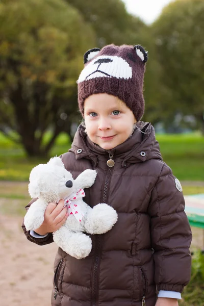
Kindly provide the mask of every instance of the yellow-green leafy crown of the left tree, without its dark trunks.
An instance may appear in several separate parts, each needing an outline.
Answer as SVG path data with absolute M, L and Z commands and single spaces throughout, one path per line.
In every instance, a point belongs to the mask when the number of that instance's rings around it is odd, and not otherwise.
M 18 77 L 25 90 L 36 80 L 71 87 L 91 39 L 90 27 L 61 0 L 8 1 L 0 11 L 1 87 L 17 86 Z

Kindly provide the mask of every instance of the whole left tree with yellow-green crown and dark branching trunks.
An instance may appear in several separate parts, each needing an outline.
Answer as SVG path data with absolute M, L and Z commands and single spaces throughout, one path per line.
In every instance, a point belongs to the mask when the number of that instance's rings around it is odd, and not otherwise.
M 83 54 L 94 41 L 91 27 L 63 0 L 2 1 L 0 128 L 17 131 L 29 156 L 47 156 L 65 124 L 69 130 Z

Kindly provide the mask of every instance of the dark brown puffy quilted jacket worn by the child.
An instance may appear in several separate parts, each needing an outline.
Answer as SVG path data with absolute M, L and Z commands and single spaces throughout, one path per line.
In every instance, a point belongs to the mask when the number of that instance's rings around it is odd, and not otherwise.
M 72 148 L 62 155 L 74 179 L 87 168 L 97 170 L 85 201 L 91 207 L 108 203 L 118 221 L 110 232 L 91 236 L 85 259 L 59 248 L 53 306 L 141 306 L 142 297 L 146 306 L 154 306 L 156 289 L 182 292 L 189 282 L 191 230 L 184 197 L 162 161 L 154 128 L 144 122 L 137 126 L 145 134 L 136 129 L 111 151 L 93 144 L 80 126 Z M 109 154 L 113 168 L 107 166 Z M 52 234 L 36 239 L 22 227 L 32 242 L 53 242 Z

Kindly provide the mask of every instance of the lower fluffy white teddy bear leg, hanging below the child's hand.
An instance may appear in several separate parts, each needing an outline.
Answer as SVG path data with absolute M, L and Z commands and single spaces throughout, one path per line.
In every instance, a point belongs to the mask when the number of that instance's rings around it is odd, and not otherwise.
M 73 233 L 65 226 L 60 227 L 58 231 L 53 233 L 53 240 L 63 251 L 77 259 L 87 257 L 92 248 L 89 236 L 81 232 Z

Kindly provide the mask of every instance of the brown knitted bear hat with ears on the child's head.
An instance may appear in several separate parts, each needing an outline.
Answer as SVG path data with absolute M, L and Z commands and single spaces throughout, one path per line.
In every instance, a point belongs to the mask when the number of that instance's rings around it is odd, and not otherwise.
M 84 116 L 84 101 L 94 93 L 117 96 L 136 120 L 144 113 L 143 79 L 147 52 L 140 45 L 114 44 L 93 48 L 84 55 L 85 67 L 78 83 L 78 103 Z

